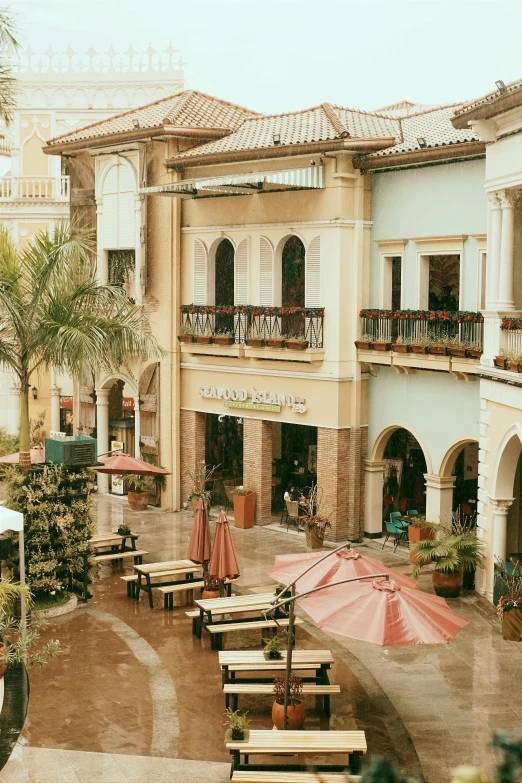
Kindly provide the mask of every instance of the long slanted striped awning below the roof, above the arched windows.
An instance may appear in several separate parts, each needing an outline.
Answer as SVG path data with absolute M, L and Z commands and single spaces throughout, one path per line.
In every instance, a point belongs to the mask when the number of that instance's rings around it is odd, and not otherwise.
M 156 185 L 152 188 L 141 188 L 140 193 L 202 198 L 247 196 L 252 193 L 316 188 L 324 188 L 323 166 L 306 166 L 286 171 L 260 171 L 255 174 L 236 174 L 228 177 L 210 177 L 209 179 L 187 179 L 167 185 Z

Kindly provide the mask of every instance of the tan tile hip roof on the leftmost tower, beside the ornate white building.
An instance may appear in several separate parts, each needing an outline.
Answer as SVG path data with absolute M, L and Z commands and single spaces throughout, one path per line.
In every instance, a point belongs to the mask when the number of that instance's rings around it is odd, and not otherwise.
M 139 128 L 143 130 L 161 128 L 164 125 L 234 130 L 245 118 L 252 116 L 258 116 L 257 112 L 196 90 L 184 90 L 146 106 L 55 136 L 48 142 L 48 146 L 134 131 L 136 120 L 139 122 Z

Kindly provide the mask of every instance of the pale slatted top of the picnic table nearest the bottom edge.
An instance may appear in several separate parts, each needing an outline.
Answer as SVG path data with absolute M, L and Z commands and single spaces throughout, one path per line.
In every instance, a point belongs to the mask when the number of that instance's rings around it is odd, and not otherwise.
M 248 740 L 227 742 L 227 750 L 254 753 L 366 753 L 364 731 L 251 730 Z

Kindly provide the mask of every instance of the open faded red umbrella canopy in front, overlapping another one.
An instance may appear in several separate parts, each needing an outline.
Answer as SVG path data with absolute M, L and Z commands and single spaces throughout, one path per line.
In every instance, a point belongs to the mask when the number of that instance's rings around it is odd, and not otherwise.
M 319 628 L 386 646 L 445 644 L 470 622 L 444 598 L 385 579 L 326 588 L 301 605 Z

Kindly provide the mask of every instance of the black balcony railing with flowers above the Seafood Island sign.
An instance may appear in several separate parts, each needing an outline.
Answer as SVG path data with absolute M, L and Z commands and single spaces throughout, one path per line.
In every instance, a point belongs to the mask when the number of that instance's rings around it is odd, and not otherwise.
M 229 336 L 237 345 L 250 340 L 307 342 L 323 347 L 324 308 L 255 305 L 181 305 L 181 334 Z

